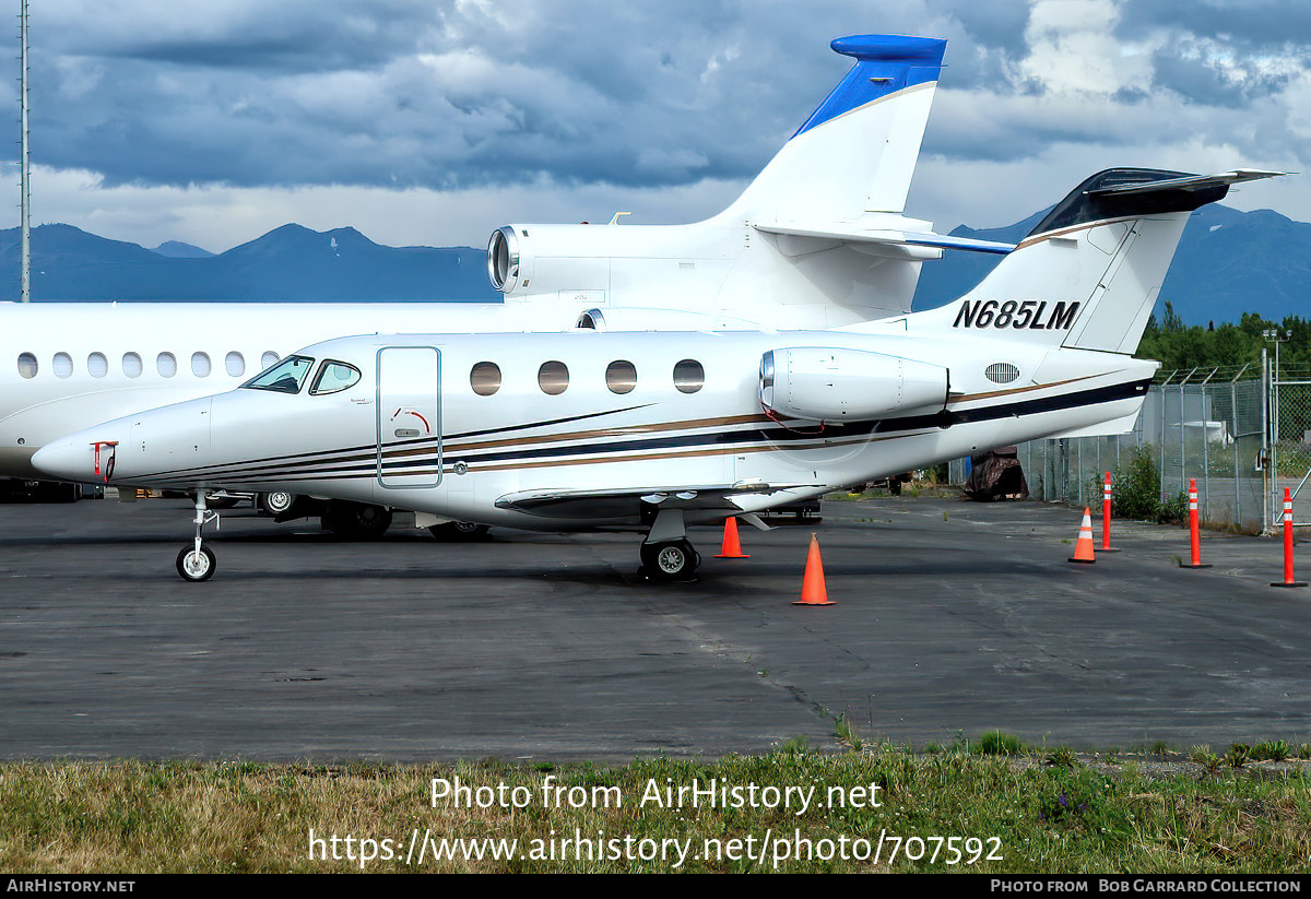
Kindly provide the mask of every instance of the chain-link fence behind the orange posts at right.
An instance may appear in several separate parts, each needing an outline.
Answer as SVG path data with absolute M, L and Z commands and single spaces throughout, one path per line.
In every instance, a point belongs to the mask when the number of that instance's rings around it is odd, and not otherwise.
M 1017 447 L 1034 499 L 1101 502 L 1104 472 L 1150 457 L 1160 499 L 1197 481 L 1198 511 L 1213 524 L 1268 531 L 1294 495 L 1294 519 L 1311 524 L 1311 370 L 1251 364 L 1163 372 L 1127 434 L 1033 440 Z M 952 464 L 953 484 L 969 473 Z

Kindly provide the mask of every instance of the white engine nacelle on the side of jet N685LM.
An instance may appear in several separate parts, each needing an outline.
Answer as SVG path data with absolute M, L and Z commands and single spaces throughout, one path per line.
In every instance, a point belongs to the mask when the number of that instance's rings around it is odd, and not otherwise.
M 940 411 L 948 371 L 882 353 L 787 347 L 760 358 L 760 405 L 780 418 L 869 421 Z

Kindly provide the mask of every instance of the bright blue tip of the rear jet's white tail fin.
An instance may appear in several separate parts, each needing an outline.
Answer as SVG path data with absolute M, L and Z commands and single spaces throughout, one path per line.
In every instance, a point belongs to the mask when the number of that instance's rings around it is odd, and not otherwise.
M 856 64 L 793 138 L 880 97 L 936 81 L 943 71 L 943 54 L 947 52 L 943 38 L 899 34 L 853 34 L 836 38 L 829 46 L 853 58 Z

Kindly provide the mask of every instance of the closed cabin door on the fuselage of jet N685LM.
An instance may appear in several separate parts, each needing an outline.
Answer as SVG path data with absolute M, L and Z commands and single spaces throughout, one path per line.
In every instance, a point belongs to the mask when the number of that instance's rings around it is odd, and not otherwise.
M 378 482 L 431 488 L 442 480 L 440 353 L 431 346 L 378 351 Z

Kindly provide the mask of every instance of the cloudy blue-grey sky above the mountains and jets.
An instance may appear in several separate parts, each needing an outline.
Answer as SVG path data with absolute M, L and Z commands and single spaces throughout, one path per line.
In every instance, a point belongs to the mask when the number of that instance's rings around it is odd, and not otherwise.
M 31 33 L 38 214 L 211 249 L 281 224 L 261 197 L 300 219 L 290 198 L 333 191 L 305 224 L 460 199 L 393 242 L 480 241 L 526 191 L 558 220 L 607 191 L 635 220 L 711 214 L 842 77 L 844 34 L 948 39 L 909 208 L 944 227 L 1023 218 L 1088 165 L 1304 170 L 1311 136 L 1294 1 L 49 0 Z M 1270 197 L 1311 218 L 1306 190 Z

